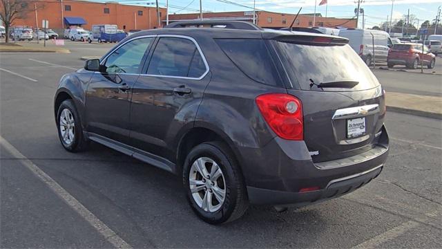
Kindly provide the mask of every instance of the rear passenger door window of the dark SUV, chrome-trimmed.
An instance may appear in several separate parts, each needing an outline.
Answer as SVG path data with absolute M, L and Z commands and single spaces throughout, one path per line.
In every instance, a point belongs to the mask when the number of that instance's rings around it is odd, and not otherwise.
M 199 78 L 206 64 L 193 41 L 180 37 L 161 37 L 148 66 L 148 75 Z

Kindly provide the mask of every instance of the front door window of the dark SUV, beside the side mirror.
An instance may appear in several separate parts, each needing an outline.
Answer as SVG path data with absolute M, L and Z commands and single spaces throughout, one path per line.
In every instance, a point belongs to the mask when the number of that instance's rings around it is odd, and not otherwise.
M 109 55 L 104 64 L 106 73 L 140 73 L 142 58 L 153 37 L 135 39 Z

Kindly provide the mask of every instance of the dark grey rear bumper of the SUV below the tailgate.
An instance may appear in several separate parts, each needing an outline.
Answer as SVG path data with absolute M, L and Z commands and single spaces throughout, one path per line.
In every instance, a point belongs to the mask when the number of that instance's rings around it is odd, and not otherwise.
M 260 151 L 245 151 L 242 170 L 253 204 L 309 205 L 356 190 L 378 176 L 388 155 L 385 127 L 372 149 L 348 158 L 314 163 L 303 141 L 274 138 Z M 302 192 L 316 187 L 318 190 Z

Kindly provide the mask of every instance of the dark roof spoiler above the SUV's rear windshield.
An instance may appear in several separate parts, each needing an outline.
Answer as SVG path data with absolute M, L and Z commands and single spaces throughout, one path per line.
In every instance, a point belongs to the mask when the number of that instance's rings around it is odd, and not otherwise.
M 343 37 L 328 36 L 328 35 L 276 35 L 269 37 L 269 39 L 276 39 L 279 42 L 288 42 L 294 44 L 318 45 L 318 46 L 343 46 L 348 44 L 348 39 Z

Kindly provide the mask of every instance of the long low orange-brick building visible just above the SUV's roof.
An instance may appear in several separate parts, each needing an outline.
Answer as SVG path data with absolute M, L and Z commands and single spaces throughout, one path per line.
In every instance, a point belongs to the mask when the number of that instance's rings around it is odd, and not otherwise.
M 262 28 L 285 28 L 291 24 L 296 14 L 285 14 L 269 11 L 256 11 L 256 19 L 258 26 Z M 240 20 L 253 21 L 253 11 L 237 11 L 237 12 L 209 12 L 202 14 L 203 19 L 224 19 L 224 20 Z M 169 15 L 170 21 L 194 20 L 199 19 L 199 13 L 193 14 L 176 14 Z M 355 28 L 356 19 L 339 19 L 334 17 L 322 17 L 316 14 L 315 24 L 313 24 L 314 15 L 299 15 L 295 21 L 294 27 L 311 27 L 322 26 L 327 28 L 345 27 Z

